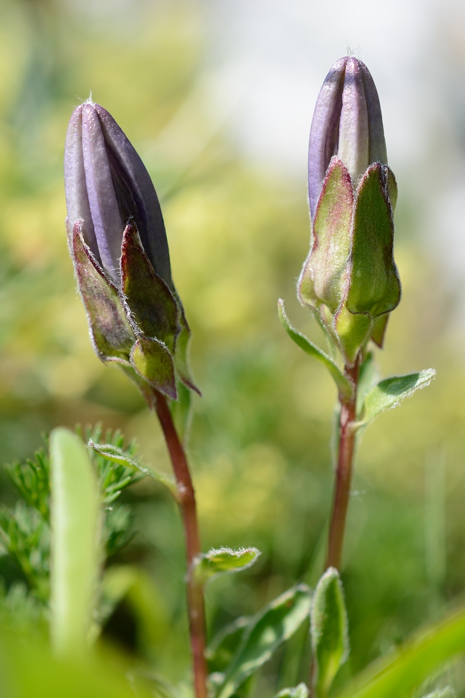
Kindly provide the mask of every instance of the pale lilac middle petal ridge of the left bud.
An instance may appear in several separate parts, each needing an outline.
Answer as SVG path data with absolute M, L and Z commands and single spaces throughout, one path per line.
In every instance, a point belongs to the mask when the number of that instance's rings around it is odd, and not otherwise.
M 103 267 L 119 282 L 124 224 L 113 186 L 105 139 L 94 104 L 82 105 L 82 154 L 87 195 Z

